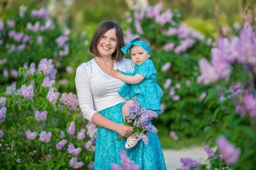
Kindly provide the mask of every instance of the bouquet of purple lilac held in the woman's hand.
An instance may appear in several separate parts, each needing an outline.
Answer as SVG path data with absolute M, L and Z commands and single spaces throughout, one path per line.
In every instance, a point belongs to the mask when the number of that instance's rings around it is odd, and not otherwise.
M 135 135 L 139 139 L 142 139 L 145 144 L 148 144 L 148 132 L 158 132 L 157 128 L 150 122 L 153 117 L 157 117 L 156 112 L 146 109 L 145 107 L 141 108 L 137 100 L 134 100 L 132 105 L 128 107 L 128 113 L 127 116 L 125 116 L 125 125 L 133 127 Z M 123 139 L 123 136 L 119 135 L 118 139 Z

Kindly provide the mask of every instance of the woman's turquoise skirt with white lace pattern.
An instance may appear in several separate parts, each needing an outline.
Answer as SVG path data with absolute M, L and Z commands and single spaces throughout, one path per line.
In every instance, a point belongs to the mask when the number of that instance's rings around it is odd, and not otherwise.
M 122 106 L 120 103 L 110 108 L 106 108 L 99 113 L 114 122 L 123 124 Z M 140 140 L 136 146 L 125 149 L 125 142 L 115 140 L 118 133 L 98 127 L 96 138 L 96 150 L 94 159 L 94 170 L 111 170 L 110 164 L 121 165 L 120 150 L 125 150 L 129 158 L 140 165 L 140 170 L 166 170 L 166 164 L 163 158 L 163 150 L 156 133 L 150 133 L 149 144 L 144 144 Z

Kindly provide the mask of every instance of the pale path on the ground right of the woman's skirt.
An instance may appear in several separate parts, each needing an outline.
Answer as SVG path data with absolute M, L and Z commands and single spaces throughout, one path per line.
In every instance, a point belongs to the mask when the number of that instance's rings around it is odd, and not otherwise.
M 206 164 L 205 160 L 208 158 L 204 147 L 189 147 L 181 150 L 163 150 L 164 159 L 167 170 L 176 170 L 181 168 L 180 158 L 190 157 L 202 164 Z

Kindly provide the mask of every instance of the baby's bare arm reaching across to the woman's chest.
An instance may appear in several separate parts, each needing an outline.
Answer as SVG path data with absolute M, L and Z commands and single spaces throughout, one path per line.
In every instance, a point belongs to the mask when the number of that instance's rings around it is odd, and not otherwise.
M 120 79 L 123 82 L 126 82 L 131 85 L 137 85 L 143 79 L 145 79 L 145 77 L 140 74 L 135 74 L 134 76 L 128 76 L 128 75 L 122 74 L 120 71 L 116 71 L 116 70 L 113 70 L 110 75 L 116 79 Z

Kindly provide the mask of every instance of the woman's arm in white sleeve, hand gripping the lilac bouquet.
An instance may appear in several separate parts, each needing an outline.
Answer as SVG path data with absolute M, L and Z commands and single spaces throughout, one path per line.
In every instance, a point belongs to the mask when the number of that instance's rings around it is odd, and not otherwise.
M 113 122 L 100 113 L 96 112 L 93 107 L 93 96 L 90 88 L 89 74 L 86 72 L 85 66 L 79 66 L 76 69 L 76 91 L 82 114 L 85 119 L 89 120 L 95 125 L 113 130 L 121 136 L 128 136 L 133 131 L 131 126 L 121 125 Z

